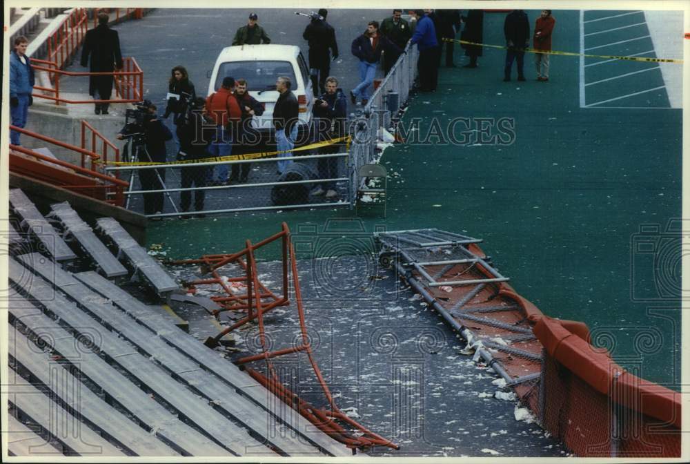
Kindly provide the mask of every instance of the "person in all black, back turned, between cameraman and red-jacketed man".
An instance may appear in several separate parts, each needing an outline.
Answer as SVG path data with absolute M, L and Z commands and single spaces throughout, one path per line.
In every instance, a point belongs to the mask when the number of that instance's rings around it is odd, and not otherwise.
M 180 151 L 179 157 L 181 160 L 193 161 L 203 160 L 210 157 L 208 153 L 208 145 L 213 137 L 215 126 L 213 121 L 205 114 L 206 101 L 199 97 L 191 101 L 189 111 L 179 118 L 177 129 L 179 131 Z M 204 211 L 204 199 L 206 191 L 206 166 L 187 166 L 180 169 L 182 189 L 190 189 L 195 186 L 194 191 L 194 209 L 195 211 Z M 190 202 L 192 200 L 191 191 L 181 191 L 179 193 L 179 207 L 185 213 L 189 211 Z M 197 213 L 197 218 L 203 218 L 204 214 Z

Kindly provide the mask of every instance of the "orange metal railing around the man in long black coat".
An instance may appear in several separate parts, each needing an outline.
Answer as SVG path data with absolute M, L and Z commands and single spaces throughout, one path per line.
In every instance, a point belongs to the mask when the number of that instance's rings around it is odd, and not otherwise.
M 43 98 L 55 101 L 56 105 L 61 103 L 70 104 L 83 104 L 83 103 L 136 103 L 144 99 L 144 71 L 141 70 L 137 60 L 133 57 L 125 57 L 122 59 L 123 68 L 120 71 L 113 72 L 75 72 L 75 71 L 65 71 L 59 69 L 59 65 L 54 61 L 48 61 L 45 59 L 32 59 L 34 63 L 44 64 L 46 66 L 37 66 L 32 64 L 32 68 L 37 71 L 48 72 L 50 75 L 55 75 L 54 87 L 41 87 L 34 86 L 35 90 L 41 90 L 42 92 L 52 93 L 54 96 L 45 95 L 42 93 L 34 93 L 33 97 Z M 96 99 L 65 99 L 60 97 L 60 77 L 61 76 L 113 76 L 115 77 L 115 95 L 119 98 L 109 99 L 109 100 L 96 100 Z

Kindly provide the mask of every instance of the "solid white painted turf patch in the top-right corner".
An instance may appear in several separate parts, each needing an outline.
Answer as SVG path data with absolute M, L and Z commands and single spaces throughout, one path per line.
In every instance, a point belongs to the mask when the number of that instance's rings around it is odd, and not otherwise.
M 683 57 L 683 12 L 644 12 L 649 35 L 654 44 L 656 56 L 667 59 Z M 660 63 L 661 74 L 666 84 L 671 108 L 682 108 L 683 64 Z

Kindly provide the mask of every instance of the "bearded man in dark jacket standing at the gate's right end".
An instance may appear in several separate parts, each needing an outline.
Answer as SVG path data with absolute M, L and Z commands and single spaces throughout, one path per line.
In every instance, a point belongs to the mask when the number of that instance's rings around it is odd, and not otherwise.
M 316 142 L 339 139 L 345 134 L 347 122 L 347 98 L 338 87 L 338 79 L 331 76 L 326 79 L 326 92 L 314 102 L 314 118 L 317 133 Z M 319 155 L 338 153 L 344 144 L 337 143 L 319 148 Z M 319 158 L 317 169 L 319 179 L 334 179 L 338 176 L 338 161 L 340 158 Z M 317 184 L 312 195 L 324 195 L 326 198 L 338 196 L 335 191 L 335 182 L 321 182 Z

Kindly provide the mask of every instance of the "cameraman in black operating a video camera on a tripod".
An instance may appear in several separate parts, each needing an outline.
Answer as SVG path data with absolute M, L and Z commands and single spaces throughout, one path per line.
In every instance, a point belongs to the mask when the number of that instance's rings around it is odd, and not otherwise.
M 132 151 L 139 149 L 139 162 L 164 163 L 167 161 L 166 141 L 172 139 L 172 133 L 156 115 L 156 106 L 149 100 L 139 105 L 140 115 L 135 122 L 129 122 L 117 134 L 117 139 L 132 137 Z M 141 114 L 143 113 L 143 114 Z M 140 169 L 139 181 L 141 190 L 162 190 L 166 180 L 166 171 L 162 169 Z M 144 214 L 160 214 L 163 212 L 163 192 L 144 193 Z M 160 220 L 160 218 L 157 218 Z

